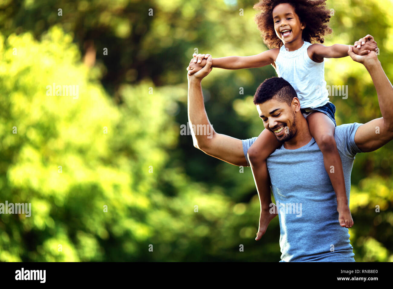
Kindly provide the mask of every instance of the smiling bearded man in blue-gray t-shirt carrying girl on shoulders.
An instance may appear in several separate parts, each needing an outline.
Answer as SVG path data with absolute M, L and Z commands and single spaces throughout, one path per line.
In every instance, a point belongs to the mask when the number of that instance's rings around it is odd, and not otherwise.
M 348 53 L 354 61 L 364 64 L 371 75 L 382 113 L 381 118 L 365 124 L 348 123 L 335 129 L 334 138 L 342 159 L 349 200 L 351 170 L 356 153 L 375 151 L 393 139 L 393 87 L 375 52 L 360 56 L 349 46 Z M 210 56 L 204 68 L 193 75 L 187 74 L 189 123 L 209 125 L 213 132 L 209 137 L 193 133 L 194 146 L 230 164 L 248 166 L 248 148 L 256 138 L 239 140 L 216 133 L 208 120 L 200 83 L 211 69 Z M 287 85 L 278 77 L 267 79 L 258 90 L 272 87 L 272 84 L 274 87 L 275 81 L 282 87 L 276 87 L 273 96 L 256 106 L 265 129 L 272 134 L 280 123 L 288 127 L 288 135 L 282 139 L 283 145 L 266 160 L 277 204 L 272 204 L 270 215 L 266 217 L 270 221 L 277 213 L 279 215 L 280 262 L 354 262 L 348 228 L 337 223 L 335 193 L 323 165 L 323 155 L 300 111 L 299 99 L 296 95 L 288 95 L 291 90 L 285 89 Z M 266 85 L 269 82 L 270 85 Z M 285 102 L 288 96 L 292 98 L 290 105 Z

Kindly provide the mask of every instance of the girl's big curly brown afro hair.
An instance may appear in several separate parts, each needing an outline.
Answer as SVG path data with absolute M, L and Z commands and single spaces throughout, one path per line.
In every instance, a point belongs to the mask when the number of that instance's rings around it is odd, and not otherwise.
M 300 22 L 306 24 L 303 29 L 303 40 L 323 43 L 323 35 L 331 33 L 332 29 L 326 24 L 330 20 L 330 10 L 325 7 L 326 0 L 261 0 L 253 6 L 261 13 L 255 16 L 258 29 L 262 32 L 263 42 L 268 48 L 280 48 L 283 42 L 274 30 L 273 9 L 275 6 L 288 3 L 294 7 Z

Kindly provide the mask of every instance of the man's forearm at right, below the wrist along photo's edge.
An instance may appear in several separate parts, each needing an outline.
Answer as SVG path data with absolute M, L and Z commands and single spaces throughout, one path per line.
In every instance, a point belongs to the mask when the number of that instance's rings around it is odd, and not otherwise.
M 373 52 L 371 52 L 373 53 Z M 384 118 L 384 124 L 393 130 L 393 86 L 382 69 L 379 60 L 365 65 L 371 78 L 373 79 L 376 93 L 378 95 L 379 108 Z

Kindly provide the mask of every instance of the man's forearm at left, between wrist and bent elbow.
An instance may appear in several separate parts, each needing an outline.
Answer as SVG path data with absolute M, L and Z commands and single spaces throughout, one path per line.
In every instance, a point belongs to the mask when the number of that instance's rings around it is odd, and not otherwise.
M 214 130 L 206 114 L 203 101 L 202 87 L 200 80 L 191 78 L 188 80 L 188 122 L 193 136 L 194 146 L 201 148 L 208 137 L 213 136 Z M 206 134 L 195 133 L 193 126 L 206 128 Z M 199 126 L 198 126 L 199 125 Z M 199 131 L 199 130 L 198 130 Z M 200 131 L 199 131 L 200 132 Z

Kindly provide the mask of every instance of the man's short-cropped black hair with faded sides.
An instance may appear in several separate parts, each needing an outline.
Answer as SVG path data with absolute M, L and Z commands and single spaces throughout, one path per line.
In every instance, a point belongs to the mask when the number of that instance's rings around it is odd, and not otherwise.
M 265 79 L 259 85 L 254 94 L 254 104 L 258 105 L 274 98 L 277 101 L 286 102 L 290 106 L 295 97 L 298 95 L 288 81 L 282 77 L 272 77 Z

